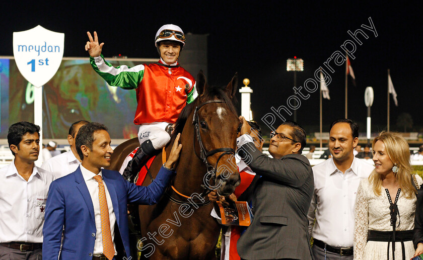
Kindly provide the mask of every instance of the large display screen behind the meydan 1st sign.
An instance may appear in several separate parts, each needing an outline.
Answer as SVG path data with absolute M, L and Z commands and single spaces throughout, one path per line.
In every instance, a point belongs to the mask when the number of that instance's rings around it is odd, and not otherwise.
M 130 67 L 146 63 L 108 61 L 114 66 Z M 14 59 L 0 58 L 0 138 L 7 138 L 13 123 L 34 122 L 33 90 Z M 106 125 L 112 138 L 136 137 L 135 109 L 135 90 L 108 85 L 88 59 L 63 60 L 57 73 L 43 86 L 43 137 L 65 139 L 70 125 L 79 120 Z

